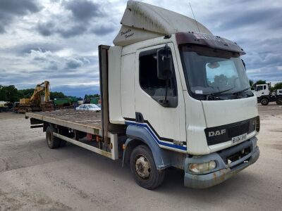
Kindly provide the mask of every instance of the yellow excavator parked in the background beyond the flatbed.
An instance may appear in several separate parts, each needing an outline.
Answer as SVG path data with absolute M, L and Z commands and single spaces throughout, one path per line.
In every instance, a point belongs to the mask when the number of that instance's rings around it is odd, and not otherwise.
M 18 113 L 54 110 L 54 106 L 49 98 L 50 83 L 48 81 L 44 81 L 41 84 L 37 84 L 35 91 L 30 98 L 20 99 Z

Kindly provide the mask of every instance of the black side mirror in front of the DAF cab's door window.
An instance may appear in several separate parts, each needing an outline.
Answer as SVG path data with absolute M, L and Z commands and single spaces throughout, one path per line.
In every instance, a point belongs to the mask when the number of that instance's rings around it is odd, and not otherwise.
M 171 49 L 166 44 L 164 48 L 157 51 L 157 77 L 159 79 L 171 79 L 172 65 Z

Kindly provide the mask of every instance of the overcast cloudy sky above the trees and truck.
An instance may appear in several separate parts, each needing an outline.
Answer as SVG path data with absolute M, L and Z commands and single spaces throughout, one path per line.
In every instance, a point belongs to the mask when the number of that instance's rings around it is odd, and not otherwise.
M 99 92 L 98 45 L 113 45 L 123 0 L 0 0 L 0 84 L 84 96 Z M 144 0 L 192 18 L 247 53 L 247 75 L 282 81 L 282 1 Z

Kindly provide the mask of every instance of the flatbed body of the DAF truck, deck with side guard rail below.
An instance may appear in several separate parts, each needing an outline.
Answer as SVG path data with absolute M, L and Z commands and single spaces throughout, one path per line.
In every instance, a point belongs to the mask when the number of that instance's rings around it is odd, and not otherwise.
M 59 139 L 68 141 L 87 150 L 93 151 L 100 155 L 104 155 L 112 160 L 118 159 L 118 146 L 117 146 L 117 134 L 107 132 L 106 140 L 109 141 L 109 147 L 102 145 L 105 139 L 102 139 L 103 129 L 102 129 L 102 114 L 95 111 L 88 110 L 53 110 L 47 112 L 36 112 L 36 113 L 25 113 L 26 118 L 30 118 L 31 127 L 43 127 L 44 131 L 51 125 L 55 129 L 53 136 Z M 35 125 L 36 124 L 36 125 Z M 66 133 L 62 133 L 68 131 Z M 84 134 L 83 136 L 88 136 L 88 141 L 85 142 L 84 139 L 75 136 L 70 136 L 71 133 L 74 134 Z

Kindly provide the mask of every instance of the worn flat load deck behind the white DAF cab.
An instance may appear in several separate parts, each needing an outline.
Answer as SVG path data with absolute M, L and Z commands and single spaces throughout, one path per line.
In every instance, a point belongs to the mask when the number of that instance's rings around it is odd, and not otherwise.
M 102 136 L 102 115 L 90 110 L 54 110 L 25 113 L 25 117 Z

